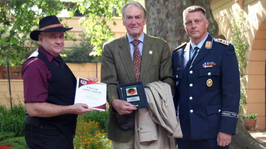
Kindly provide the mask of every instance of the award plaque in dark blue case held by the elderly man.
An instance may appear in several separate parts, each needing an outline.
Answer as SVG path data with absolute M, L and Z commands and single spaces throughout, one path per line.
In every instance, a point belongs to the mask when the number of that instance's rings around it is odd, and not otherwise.
M 129 102 L 134 105 L 136 108 L 148 107 L 144 86 L 141 81 L 119 84 L 118 91 L 120 100 L 125 100 L 126 102 Z

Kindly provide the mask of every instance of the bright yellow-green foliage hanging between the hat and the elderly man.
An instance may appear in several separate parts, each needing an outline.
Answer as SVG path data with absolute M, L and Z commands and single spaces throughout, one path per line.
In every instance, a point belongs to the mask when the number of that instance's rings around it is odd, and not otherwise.
M 95 46 L 92 55 L 101 55 L 100 45 L 106 39 L 114 38 L 111 28 L 107 22 L 113 21 L 113 16 L 121 16 L 120 8 L 126 3 L 127 0 L 83 0 L 77 1 L 74 7 L 74 12 L 79 12 L 84 16 L 80 19 L 80 24 L 85 26 L 85 33 L 87 37 L 91 38 L 91 44 Z

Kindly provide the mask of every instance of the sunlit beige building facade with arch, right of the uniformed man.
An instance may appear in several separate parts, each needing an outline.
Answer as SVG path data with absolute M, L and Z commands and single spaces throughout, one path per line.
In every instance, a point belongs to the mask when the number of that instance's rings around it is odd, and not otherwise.
M 233 15 L 244 10 L 243 34 L 248 45 L 244 113 L 257 113 L 256 129 L 265 129 L 266 0 L 211 0 L 211 9 L 219 26 L 219 37 L 228 41 L 234 27 Z

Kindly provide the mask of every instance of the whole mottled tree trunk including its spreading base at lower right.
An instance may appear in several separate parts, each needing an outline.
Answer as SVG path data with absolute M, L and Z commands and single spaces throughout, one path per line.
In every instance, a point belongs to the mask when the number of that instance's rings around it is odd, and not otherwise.
M 183 10 L 191 5 L 204 7 L 209 20 L 208 32 L 213 38 L 218 36 L 218 24 L 210 9 L 210 0 L 145 0 L 147 11 L 147 34 L 166 40 L 172 51 L 189 37 L 183 27 Z M 254 139 L 239 119 L 236 135 L 232 137 L 230 148 L 265 148 Z

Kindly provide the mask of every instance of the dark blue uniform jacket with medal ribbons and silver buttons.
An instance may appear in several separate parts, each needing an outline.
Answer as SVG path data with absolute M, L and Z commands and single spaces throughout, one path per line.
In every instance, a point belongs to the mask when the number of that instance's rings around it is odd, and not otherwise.
M 235 134 L 240 100 L 239 68 L 234 46 L 208 35 L 190 65 L 190 43 L 172 53 L 174 100 L 178 102 L 183 139 Z

